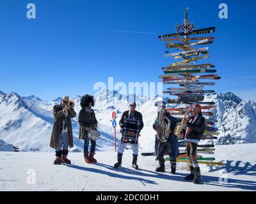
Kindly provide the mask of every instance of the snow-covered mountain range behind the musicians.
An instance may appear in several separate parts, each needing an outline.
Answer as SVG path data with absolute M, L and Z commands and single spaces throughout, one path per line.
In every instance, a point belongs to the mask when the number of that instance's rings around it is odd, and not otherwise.
M 99 120 L 99 131 L 102 136 L 97 141 L 98 150 L 113 150 L 113 128 L 111 113 L 116 111 L 119 122 L 122 112 L 128 110 L 129 99 L 141 99 L 137 110 L 143 114 L 145 128 L 141 131 L 140 147 L 143 149 L 154 149 L 155 131 L 152 124 L 157 116 L 155 98 L 147 99 L 141 96 L 122 96 L 115 91 L 102 91 L 95 96 L 95 110 Z M 77 117 L 80 108 L 81 96 L 76 96 L 75 110 Z M 0 138 L 7 143 L 18 145 L 20 150 L 28 151 L 31 147 L 37 147 L 40 151 L 47 152 L 52 149 L 49 147 L 51 137 L 53 117 L 52 106 L 60 103 L 61 98 L 47 102 L 36 96 L 21 97 L 15 92 L 4 94 L 0 92 Z M 215 101 L 216 108 L 214 118 L 217 120 L 216 128 L 220 132 L 216 144 L 233 143 L 254 143 L 256 142 L 256 103 L 253 101 L 243 101 L 231 92 L 221 94 L 207 94 L 205 101 Z M 171 105 L 172 107 L 175 105 Z M 79 140 L 79 124 L 77 117 L 72 120 L 74 129 L 73 151 L 83 150 L 83 141 Z M 118 132 L 118 138 L 120 133 Z

